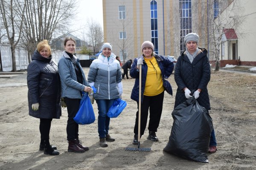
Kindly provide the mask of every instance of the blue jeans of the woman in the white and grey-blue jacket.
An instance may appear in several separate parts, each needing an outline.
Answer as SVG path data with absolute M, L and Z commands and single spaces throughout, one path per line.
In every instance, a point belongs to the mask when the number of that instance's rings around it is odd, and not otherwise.
M 115 99 L 96 99 L 98 105 L 98 133 L 100 138 L 108 134 L 110 118 L 107 116 L 108 109 L 113 105 Z

